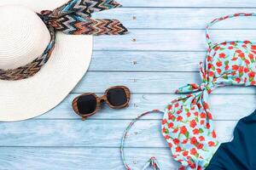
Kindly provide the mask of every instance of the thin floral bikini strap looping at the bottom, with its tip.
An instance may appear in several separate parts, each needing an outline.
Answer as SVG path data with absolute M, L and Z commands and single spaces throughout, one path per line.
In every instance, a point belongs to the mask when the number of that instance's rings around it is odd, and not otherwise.
M 154 110 L 154 111 L 147 111 L 145 113 L 143 113 L 142 115 L 140 116 L 137 116 L 136 119 L 134 119 L 129 125 L 128 127 L 126 127 L 125 129 L 125 133 L 123 135 L 123 138 L 122 138 L 122 142 L 121 142 L 121 147 L 120 147 L 120 154 L 121 154 L 121 158 L 122 158 L 122 161 L 126 167 L 126 169 L 128 170 L 131 170 L 131 167 L 128 165 L 128 163 L 125 161 L 125 152 L 124 152 L 124 145 L 125 145 L 125 139 L 127 137 L 127 133 L 129 132 L 129 130 L 131 129 L 131 127 L 134 125 L 135 122 L 137 122 L 137 120 L 139 120 L 142 116 L 146 116 L 148 114 L 151 114 L 151 113 L 164 113 L 163 111 L 159 111 L 159 110 Z M 143 170 L 144 169 L 147 169 L 148 167 L 153 167 L 154 170 L 160 170 L 160 166 L 159 166 L 159 163 L 157 162 L 156 158 L 153 156 L 151 157 L 147 163 L 145 164 L 145 166 L 143 167 Z

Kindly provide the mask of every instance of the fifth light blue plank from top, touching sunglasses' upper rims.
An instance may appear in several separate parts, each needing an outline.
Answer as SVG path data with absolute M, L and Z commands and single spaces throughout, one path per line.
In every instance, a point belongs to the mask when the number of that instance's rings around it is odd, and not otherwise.
M 132 94 L 173 94 L 187 83 L 201 83 L 198 72 L 112 72 L 88 71 L 73 89 L 73 93 L 103 93 L 105 89 L 124 85 Z M 226 87 L 213 91 L 215 94 L 255 94 L 255 88 Z

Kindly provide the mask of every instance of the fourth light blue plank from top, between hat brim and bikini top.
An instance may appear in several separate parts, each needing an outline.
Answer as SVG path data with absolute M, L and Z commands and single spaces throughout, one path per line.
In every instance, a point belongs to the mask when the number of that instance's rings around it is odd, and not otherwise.
M 89 71 L 199 71 L 206 52 L 95 51 Z

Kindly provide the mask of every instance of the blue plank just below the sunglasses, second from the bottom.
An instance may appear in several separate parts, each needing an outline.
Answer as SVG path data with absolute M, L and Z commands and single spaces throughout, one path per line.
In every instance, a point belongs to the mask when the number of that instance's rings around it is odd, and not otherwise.
M 249 113 L 247 113 L 249 114 Z M 1 122 L 1 146 L 119 147 L 130 120 L 31 120 Z M 220 142 L 229 141 L 236 121 L 214 121 Z M 127 147 L 168 147 L 160 120 L 141 120 L 132 127 Z

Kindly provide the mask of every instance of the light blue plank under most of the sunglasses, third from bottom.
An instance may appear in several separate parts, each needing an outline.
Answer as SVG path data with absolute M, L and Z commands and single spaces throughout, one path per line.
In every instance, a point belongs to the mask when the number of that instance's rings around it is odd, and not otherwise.
M 38 119 L 79 119 L 71 106 L 72 100 L 79 94 L 70 94 L 54 110 L 49 111 Z M 102 94 L 98 94 L 102 95 Z M 164 110 L 166 105 L 177 98 L 170 94 L 132 94 L 130 107 L 122 110 L 110 109 L 102 105 L 102 110 L 90 119 L 133 119 L 145 111 L 154 109 Z M 239 120 L 253 112 L 256 98 L 254 94 L 212 94 L 209 97 L 212 115 L 215 120 Z M 226 107 L 230 105 L 231 107 Z M 242 108 L 242 109 L 241 109 Z M 161 115 L 145 116 L 143 119 L 158 119 Z

